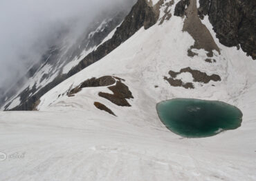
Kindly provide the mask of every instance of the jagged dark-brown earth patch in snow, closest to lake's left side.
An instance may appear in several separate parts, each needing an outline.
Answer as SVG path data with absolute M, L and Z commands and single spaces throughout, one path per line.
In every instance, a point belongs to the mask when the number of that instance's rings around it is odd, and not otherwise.
M 117 81 L 116 85 L 108 87 L 113 94 L 108 94 L 104 92 L 100 92 L 99 96 L 102 98 L 106 98 L 107 100 L 111 101 L 111 103 L 118 105 L 118 106 L 127 106 L 131 107 L 126 99 L 134 98 L 129 91 L 129 87 L 122 83 L 121 81 Z

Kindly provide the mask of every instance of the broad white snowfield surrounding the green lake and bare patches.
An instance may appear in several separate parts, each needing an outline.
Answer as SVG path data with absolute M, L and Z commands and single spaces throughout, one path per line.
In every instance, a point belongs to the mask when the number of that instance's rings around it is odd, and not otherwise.
M 174 5 L 171 7 L 174 14 Z M 161 13 L 163 15 L 163 12 Z M 256 61 L 215 38 L 221 54 L 207 63 L 205 50 L 192 50 L 194 39 L 174 17 L 134 36 L 100 61 L 51 89 L 39 111 L 0 112 L 0 152 L 23 158 L 0 162 L 0 180 L 256 180 Z M 172 87 L 163 79 L 185 67 L 221 81 Z M 89 78 L 118 76 L 134 98 L 119 107 L 98 96 L 107 87 L 69 89 Z M 191 82 L 189 73 L 179 75 Z M 209 138 L 181 138 L 165 128 L 156 104 L 171 98 L 221 100 L 243 112 L 241 127 Z M 100 102 L 116 116 L 97 109 Z

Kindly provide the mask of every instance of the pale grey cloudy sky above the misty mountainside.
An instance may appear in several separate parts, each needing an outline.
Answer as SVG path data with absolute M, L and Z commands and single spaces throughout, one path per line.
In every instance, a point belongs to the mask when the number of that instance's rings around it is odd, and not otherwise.
M 134 0 L 1 0 L 0 89 L 38 61 L 62 28 L 86 28 L 102 10 Z M 75 29 L 75 28 L 74 28 Z

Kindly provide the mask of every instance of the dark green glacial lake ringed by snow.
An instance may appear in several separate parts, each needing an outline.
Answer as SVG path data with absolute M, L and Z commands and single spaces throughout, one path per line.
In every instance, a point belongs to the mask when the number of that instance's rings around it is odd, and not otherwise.
M 163 124 L 185 138 L 214 136 L 241 126 L 240 109 L 212 100 L 175 98 L 156 105 Z

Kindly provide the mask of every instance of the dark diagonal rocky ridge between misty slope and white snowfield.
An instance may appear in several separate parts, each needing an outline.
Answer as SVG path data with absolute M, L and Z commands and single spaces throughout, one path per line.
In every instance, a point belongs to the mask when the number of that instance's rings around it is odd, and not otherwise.
M 143 26 L 145 29 L 148 29 L 154 25 L 158 21 L 158 7 L 158 3 L 154 7 L 147 0 L 138 0 L 133 8 L 131 8 L 127 17 L 122 21 L 122 24 L 116 29 L 116 32 L 113 34 L 111 39 L 105 41 L 102 45 L 98 46 L 96 50 L 85 56 L 84 59 L 82 59 L 82 61 L 73 67 L 67 74 L 59 74 L 53 81 L 51 81 L 51 83 L 48 83 L 39 90 L 25 89 L 24 92 L 19 95 L 20 97 L 22 96 L 21 104 L 10 110 L 35 109 L 37 100 L 39 100 L 39 98 L 50 89 L 66 80 L 66 78 L 80 72 L 80 70 L 83 70 L 85 67 L 99 61 L 101 58 L 116 49 L 116 47 L 118 47 L 122 42 L 129 39 L 129 37 L 135 34 Z M 34 92 L 36 93 L 33 94 Z M 31 94 L 33 94 L 33 96 L 30 96 Z M 6 105 L 5 109 L 8 109 L 9 105 Z

